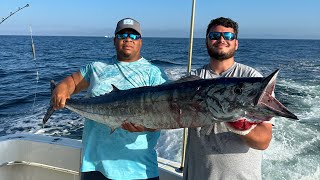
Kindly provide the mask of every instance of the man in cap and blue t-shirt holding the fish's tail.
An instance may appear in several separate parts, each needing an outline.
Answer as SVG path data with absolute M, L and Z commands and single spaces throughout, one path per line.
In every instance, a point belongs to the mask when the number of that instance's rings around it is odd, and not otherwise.
M 63 79 L 52 93 L 54 109 L 65 106 L 72 94 L 87 89 L 87 96 L 120 90 L 155 86 L 166 75 L 140 56 L 140 24 L 125 18 L 118 22 L 114 46 L 116 56 L 92 62 Z M 111 133 L 101 123 L 86 119 L 82 135 L 81 179 L 159 179 L 154 149 L 160 132 L 123 120 L 122 128 Z M 129 120 L 130 121 L 130 120 Z

